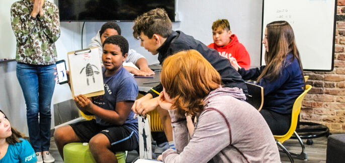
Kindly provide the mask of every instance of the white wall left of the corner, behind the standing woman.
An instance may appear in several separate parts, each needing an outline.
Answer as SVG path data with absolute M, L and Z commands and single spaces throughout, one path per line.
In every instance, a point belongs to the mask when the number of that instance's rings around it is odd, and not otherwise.
M 15 2 L 16 0 L 11 1 Z M 10 21 L 10 7 L 13 2 L 9 2 L 9 0 L 0 1 L 0 22 L 5 22 L 0 25 L 0 34 L 2 36 L 0 45 L 4 45 L 4 47 L 2 47 L 3 51 L 0 51 L 0 58 L 11 57 L 9 54 L 4 54 L 4 48 L 12 53 L 16 52 L 16 38 L 12 32 Z M 50 0 L 49 2 L 53 1 Z M 55 43 L 58 60 L 67 60 L 68 51 L 81 48 L 81 26 L 82 23 L 61 22 L 61 35 Z M 15 57 L 15 54 L 13 54 L 13 56 Z M 16 61 L 0 62 L 0 109 L 7 114 L 11 120 L 12 126 L 28 134 L 26 105 L 16 76 L 16 65 Z M 68 85 L 56 85 L 51 105 L 52 114 L 54 113 L 53 104 L 69 99 L 71 99 L 71 93 Z M 52 115 L 51 128 L 53 127 L 54 116 Z

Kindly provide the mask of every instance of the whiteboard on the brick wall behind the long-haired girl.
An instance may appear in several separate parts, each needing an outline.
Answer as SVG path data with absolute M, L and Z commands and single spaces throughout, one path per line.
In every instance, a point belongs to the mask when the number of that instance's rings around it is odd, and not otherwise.
M 336 0 L 264 0 L 262 37 L 266 25 L 289 22 L 304 70 L 333 70 Z M 261 64 L 265 65 L 262 45 Z

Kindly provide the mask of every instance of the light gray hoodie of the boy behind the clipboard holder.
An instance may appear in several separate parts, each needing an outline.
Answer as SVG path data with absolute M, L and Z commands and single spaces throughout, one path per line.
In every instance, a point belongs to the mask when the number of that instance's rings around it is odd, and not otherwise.
M 101 60 L 101 64 L 103 65 L 102 63 L 103 46 L 102 46 L 100 31 L 98 31 L 97 35 L 91 39 L 91 42 L 88 48 L 96 47 L 96 46 L 99 47 L 100 58 L 101 58 L 100 60 Z M 132 62 L 133 64 L 135 64 L 140 58 L 145 58 L 145 57 L 137 53 L 135 50 L 129 49 L 126 62 L 124 62 L 124 66 L 132 66 L 129 62 Z M 126 64 L 126 63 L 129 63 L 129 64 Z

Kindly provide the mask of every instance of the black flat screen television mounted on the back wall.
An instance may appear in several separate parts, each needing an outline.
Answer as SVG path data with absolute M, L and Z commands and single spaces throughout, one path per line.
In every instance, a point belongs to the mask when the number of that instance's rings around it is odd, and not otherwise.
M 61 22 L 133 21 L 156 8 L 175 21 L 175 0 L 58 0 L 58 8 Z

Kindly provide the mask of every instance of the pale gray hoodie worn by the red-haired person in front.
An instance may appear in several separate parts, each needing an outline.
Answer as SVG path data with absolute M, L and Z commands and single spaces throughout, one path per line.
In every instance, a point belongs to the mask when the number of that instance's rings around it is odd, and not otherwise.
M 238 88 L 219 88 L 204 100 L 190 137 L 186 117 L 169 110 L 176 150 L 164 162 L 280 162 L 273 134 L 263 116 L 244 101 Z

